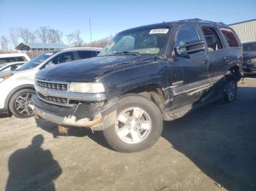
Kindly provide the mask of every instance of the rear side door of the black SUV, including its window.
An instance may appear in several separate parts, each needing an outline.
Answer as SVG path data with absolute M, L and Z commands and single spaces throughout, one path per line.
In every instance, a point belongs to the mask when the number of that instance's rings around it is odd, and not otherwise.
M 228 52 L 225 49 L 220 37 L 218 28 L 214 26 L 202 26 L 203 36 L 206 41 L 206 51 L 208 52 L 208 64 L 210 69 L 211 84 L 218 82 L 227 71 L 229 62 Z

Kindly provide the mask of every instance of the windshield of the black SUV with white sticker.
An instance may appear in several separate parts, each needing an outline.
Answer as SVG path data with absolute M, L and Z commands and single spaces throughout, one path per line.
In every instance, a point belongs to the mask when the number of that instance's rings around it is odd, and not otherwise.
M 170 28 L 135 28 L 117 34 L 102 55 L 155 55 L 165 52 Z

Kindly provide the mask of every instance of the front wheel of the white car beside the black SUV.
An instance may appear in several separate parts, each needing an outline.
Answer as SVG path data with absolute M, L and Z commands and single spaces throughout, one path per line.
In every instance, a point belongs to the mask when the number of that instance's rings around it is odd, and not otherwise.
M 34 90 L 22 89 L 12 95 L 9 101 L 9 109 L 15 117 L 27 118 L 34 115 L 34 106 L 31 102 L 31 97 Z

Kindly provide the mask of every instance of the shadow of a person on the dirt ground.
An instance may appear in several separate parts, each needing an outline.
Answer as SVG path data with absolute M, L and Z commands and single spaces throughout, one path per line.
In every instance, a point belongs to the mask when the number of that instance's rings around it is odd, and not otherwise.
M 61 175 L 59 163 L 50 150 L 41 145 L 42 135 L 34 136 L 31 145 L 18 149 L 9 158 L 6 190 L 55 190 L 53 180 Z

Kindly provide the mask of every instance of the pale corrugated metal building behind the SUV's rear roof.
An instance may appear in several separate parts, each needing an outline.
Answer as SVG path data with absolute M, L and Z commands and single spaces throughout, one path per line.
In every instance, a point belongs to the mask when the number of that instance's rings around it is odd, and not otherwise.
M 229 25 L 239 36 L 241 42 L 256 41 L 256 19 Z

